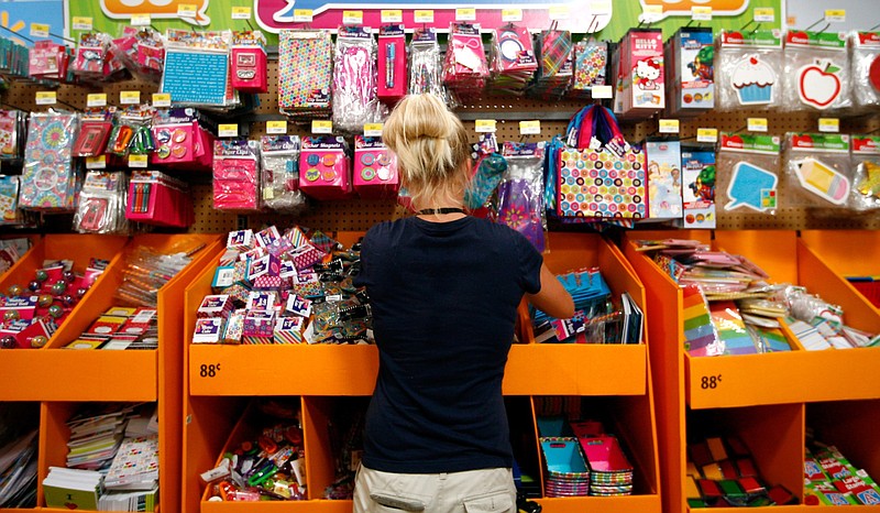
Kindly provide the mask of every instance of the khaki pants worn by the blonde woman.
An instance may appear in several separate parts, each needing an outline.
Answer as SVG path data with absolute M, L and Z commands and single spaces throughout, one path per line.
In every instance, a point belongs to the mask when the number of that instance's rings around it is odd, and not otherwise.
M 364 466 L 354 482 L 354 513 L 516 513 L 510 469 L 392 473 Z

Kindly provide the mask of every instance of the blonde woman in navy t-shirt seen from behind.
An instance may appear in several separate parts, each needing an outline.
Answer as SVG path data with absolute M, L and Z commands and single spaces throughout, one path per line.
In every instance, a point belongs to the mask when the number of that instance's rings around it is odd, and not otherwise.
M 571 296 L 515 230 L 468 216 L 470 144 L 432 95 L 403 99 L 383 138 L 418 212 L 366 233 L 380 371 L 354 512 L 516 512 L 502 378 L 524 294 L 558 318 Z

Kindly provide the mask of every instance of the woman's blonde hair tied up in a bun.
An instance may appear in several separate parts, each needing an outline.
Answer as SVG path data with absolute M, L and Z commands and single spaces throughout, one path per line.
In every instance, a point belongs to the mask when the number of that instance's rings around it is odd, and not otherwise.
M 455 207 L 470 182 L 471 148 L 461 120 L 435 95 L 409 95 L 382 131 L 416 208 Z M 422 201 L 454 201 L 422 205 Z

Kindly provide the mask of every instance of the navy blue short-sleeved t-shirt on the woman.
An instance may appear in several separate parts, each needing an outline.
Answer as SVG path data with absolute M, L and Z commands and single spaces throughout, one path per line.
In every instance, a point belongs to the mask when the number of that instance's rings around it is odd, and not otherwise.
M 363 462 L 398 473 L 513 463 L 502 378 L 524 293 L 542 258 L 510 228 L 465 217 L 382 222 L 366 233 L 366 286 L 380 350 Z

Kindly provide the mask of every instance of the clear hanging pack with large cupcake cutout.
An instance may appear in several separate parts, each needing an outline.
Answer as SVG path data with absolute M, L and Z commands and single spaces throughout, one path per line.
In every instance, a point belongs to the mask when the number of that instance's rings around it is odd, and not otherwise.
M 717 109 L 778 109 L 783 105 L 782 40 L 777 32 L 722 32 Z

